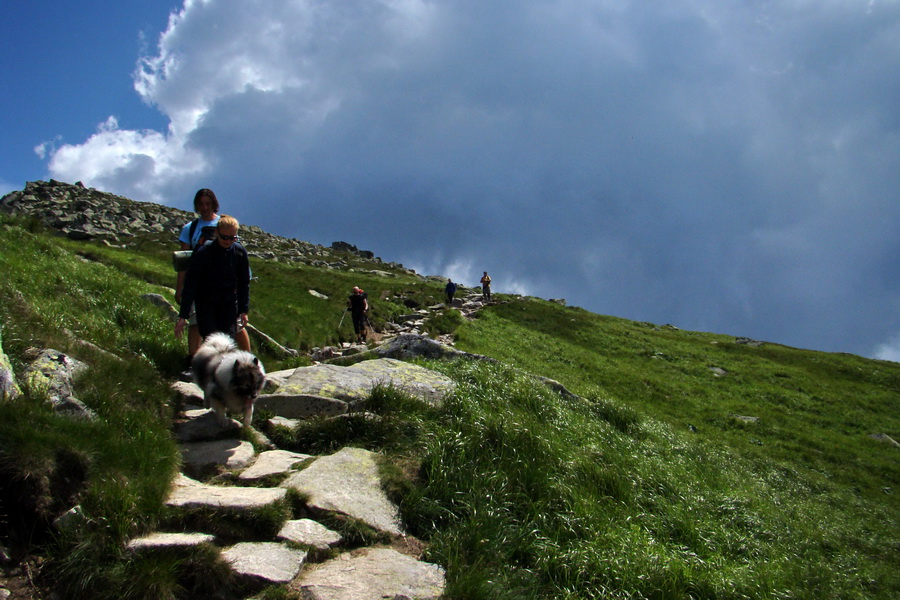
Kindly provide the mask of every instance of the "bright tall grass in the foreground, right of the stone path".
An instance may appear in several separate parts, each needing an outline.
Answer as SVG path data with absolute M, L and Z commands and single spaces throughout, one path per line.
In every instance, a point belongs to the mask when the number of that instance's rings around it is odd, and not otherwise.
M 458 383 L 441 409 L 384 394 L 368 407 L 379 419 L 355 433 L 401 468 L 419 465 L 414 484 L 393 496 L 411 533 L 430 542 L 426 558 L 447 568 L 451 598 L 900 590 L 887 505 L 703 443 L 614 400 L 566 399 L 509 367 L 428 366 Z M 382 420 L 417 435 L 380 436 Z

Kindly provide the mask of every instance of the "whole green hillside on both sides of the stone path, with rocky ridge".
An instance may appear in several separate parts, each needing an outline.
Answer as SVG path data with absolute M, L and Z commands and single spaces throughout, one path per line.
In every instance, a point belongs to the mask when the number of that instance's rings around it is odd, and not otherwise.
M 100 415 L 61 418 L 27 385 L 0 404 L 9 588 L 208 597 L 196 590 L 209 582 L 185 575 L 183 559 L 151 564 L 122 550 L 171 522 L 163 500 L 182 458 L 170 385 L 185 347 L 142 296 L 173 301 L 170 254 L 191 215 L 59 182 L 29 184 L 0 208 L 14 213 L 0 217 L 0 343 L 11 371 L 26 382 L 34 348 L 66 352 L 90 365 L 75 391 Z M 312 364 L 327 346 L 340 352 L 353 285 L 369 291 L 379 337 L 415 315 L 421 330 L 496 359 L 414 361 L 455 382 L 438 408 L 376 390 L 366 411 L 377 418 L 270 434 L 292 452 L 352 446 L 383 457 L 409 539 L 446 569 L 446 597 L 900 595 L 900 365 L 536 298 L 499 295 L 465 318 L 436 307 L 441 278 L 346 244 L 241 233 L 256 277 L 251 322 L 298 351 L 256 339 L 269 372 Z M 90 525 L 62 534 L 54 520 L 75 504 Z M 356 535 L 348 554 L 369 534 Z M 203 552 L 191 561 L 217 568 Z M 116 587 L 125 581 L 143 587 L 128 595 Z M 86 593 L 98 582 L 113 591 Z

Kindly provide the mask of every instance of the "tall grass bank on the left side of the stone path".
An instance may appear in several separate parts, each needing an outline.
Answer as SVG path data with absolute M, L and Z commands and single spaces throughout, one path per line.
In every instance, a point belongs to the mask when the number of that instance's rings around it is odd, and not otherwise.
M 75 395 L 97 415 L 61 417 L 25 381 L 22 396 L 0 403 L 4 529 L 15 552 L 45 549 L 65 597 L 128 597 L 124 544 L 158 522 L 180 460 L 164 375 L 180 368 L 182 351 L 171 323 L 140 299 L 157 288 L 40 232 L 2 229 L 4 351 L 19 373 L 32 346 L 87 363 Z M 50 522 L 75 505 L 81 517 L 48 537 Z

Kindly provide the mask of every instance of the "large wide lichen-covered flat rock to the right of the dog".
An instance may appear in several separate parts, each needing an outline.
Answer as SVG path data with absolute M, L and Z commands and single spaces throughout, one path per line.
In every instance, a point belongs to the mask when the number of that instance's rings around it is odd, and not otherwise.
M 300 367 L 275 393 L 335 398 L 352 407 L 365 400 L 379 384 L 393 385 L 431 404 L 439 403 L 455 387 L 452 379 L 430 369 L 394 358 L 379 358 L 349 367 L 332 364 Z

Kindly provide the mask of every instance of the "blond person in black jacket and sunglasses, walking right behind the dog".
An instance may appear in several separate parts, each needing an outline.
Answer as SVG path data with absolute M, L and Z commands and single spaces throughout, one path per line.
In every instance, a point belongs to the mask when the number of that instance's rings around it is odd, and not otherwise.
M 181 337 L 193 306 L 200 338 L 222 332 L 236 338 L 248 322 L 250 261 L 237 241 L 240 224 L 222 215 L 216 239 L 194 251 L 184 277 L 175 337 Z

